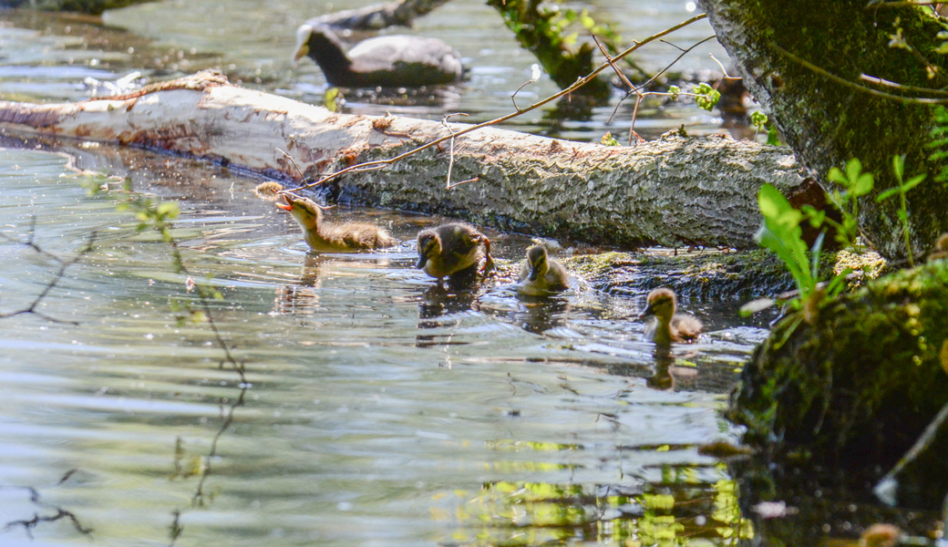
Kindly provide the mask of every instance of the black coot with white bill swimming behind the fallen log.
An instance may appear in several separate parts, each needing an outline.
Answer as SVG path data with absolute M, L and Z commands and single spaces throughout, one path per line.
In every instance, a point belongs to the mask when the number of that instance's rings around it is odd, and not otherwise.
M 419 87 L 461 79 L 461 55 L 441 40 L 420 36 L 379 36 L 359 42 L 346 54 L 336 34 L 322 25 L 297 30 L 295 59 L 319 64 L 326 81 L 340 87 Z

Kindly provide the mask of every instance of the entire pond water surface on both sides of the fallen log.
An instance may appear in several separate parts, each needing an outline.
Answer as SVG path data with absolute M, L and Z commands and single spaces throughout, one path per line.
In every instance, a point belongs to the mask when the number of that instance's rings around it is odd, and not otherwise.
M 597 9 L 636 37 L 690 15 L 677 3 Z M 222 66 L 318 101 L 319 70 L 293 68 L 289 50 L 295 27 L 325 10 L 163 2 L 109 12 L 105 26 L 4 12 L 0 95 L 79 100 L 86 77 Z M 449 39 L 472 74 L 448 90 L 456 103 L 400 112 L 508 111 L 533 60 L 496 14 L 455 2 L 413 31 Z M 673 54 L 649 55 L 654 68 Z M 544 81 L 523 97 L 553 91 Z M 515 125 L 598 139 L 610 113 Z M 656 134 L 720 123 L 694 108 L 652 114 Z M 720 410 L 766 336 L 737 319 L 739 302 L 684 301 L 709 334 L 663 354 L 642 340 L 644 295 L 439 288 L 412 267 L 414 235 L 435 219 L 332 210 L 405 243 L 316 255 L 240 173 L 96 143 L 0 145 L 0 314 L 38 312 L 0 319 L 0 544 L 730 545 L 750 533 L 726 468 L 698 449 L 738 440 Z M 210 317 L 240 371 L 212 325 L 187 320 L 201 302 L 173 273 L 172 247 L 116 210 L 115 179 L 72 163 L 179 201 L 174 240 L 191 280 L 220 290 Z M 100 185 L 109 191 L 87 191 Z M 489 235 L 508 261 L 530 245 Z M 16 523 L 37 514 L 60 519 Z

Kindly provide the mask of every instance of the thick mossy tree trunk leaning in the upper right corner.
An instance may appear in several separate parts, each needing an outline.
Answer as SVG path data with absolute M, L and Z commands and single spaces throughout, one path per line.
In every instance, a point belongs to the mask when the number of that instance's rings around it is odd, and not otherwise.
M 948 57 L 937 37 L 948 25 L 908 4 L 700 0 L 744 84 L 818 180 L 853 157 L 876 173 L 876 194 L 896 185 L 893 155 L 906 155 L 906 178 L 928 173 L 908 193 L 919 256 L 948 230 L 948 184 L 933 180 L 948 159 L 930 159 L 926 147 L 935 104 L 912 100 L 944 101 Z M 912 88 L 869 83 L 863 75 Z M 860 207 L 861 228 L 887 258 L 906 254 L 898 209 L 898 199 L 866 199 Z

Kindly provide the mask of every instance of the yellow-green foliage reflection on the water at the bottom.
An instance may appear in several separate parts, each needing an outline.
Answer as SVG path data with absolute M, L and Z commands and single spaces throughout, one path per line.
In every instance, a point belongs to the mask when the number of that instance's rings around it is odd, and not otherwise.
M 528 444 L 517 445 L 522 449 Z M 540 451 L 574 448 L 535 447 Z M 523 471 L 549 471 L 554 464 L 515 465 Z M 668 547 L 691 545 L 696 538 L 714 545 L 753 538 L 750 522 L 740 516 L 736 483 L 702 484 L 699 474 L 700 469 L 692 466 L 666 466 L 663 483 L 651 491 L 603 484 L 485 483 L 475 494 L 455 491 L 461 504 L 454 517 L 461 520 L 461 529 L 452 538 L 479 545 L 588 541 Z M 451 516 L 436 513 L 435 518 Z

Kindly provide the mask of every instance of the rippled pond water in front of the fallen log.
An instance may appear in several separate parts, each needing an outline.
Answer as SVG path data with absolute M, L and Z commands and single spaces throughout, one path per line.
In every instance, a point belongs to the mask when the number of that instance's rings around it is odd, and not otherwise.
M 66 149 L 82 169 L 183 198 L 173 233 L 192 278 L 222 292 L 210 314 L 246 378 L 222 367 L 209 325 L 177 321 L 170 302 L 193 306 L 194 295 L 160 237 L 137 233 L 109 195 L 88 196 L 63 156 L 0 151 L 4 233 L 26 234 L 35 216 L 37 242 L 65 254 L 100 234 L 44 308 L 78 325 L 0 319 L 0 484 L 78 469 L 50 489 L 103 543 L 621 544 L 681 524 L 678 539 L 724 544 L 711 500 L 727 475 L 695 447 L 737 438 L 718 410 L 763 331 L 711 315 L 720 330 L 663 364 L 630 320 L 642 295 L 438 287 L 412 267 L 410 244 L 309 253 L 295 223 L 253 196 L 258 181 L 141 151 Z M 403 241 L 432 222 L 340 216 L 391 223 Z M 496 239 L 500 258 L 529 245 Z M 0 253 L 5 305 L 55 268 L 16 246 Z M 655 516 L 674 522 L 646 520 L 646 495 L 672 496 Z M 35 509 L 9 497 L 0 511 L 6 522 Z M 37 544 L 81 537 L 33 532 Z

